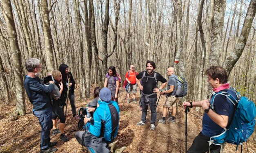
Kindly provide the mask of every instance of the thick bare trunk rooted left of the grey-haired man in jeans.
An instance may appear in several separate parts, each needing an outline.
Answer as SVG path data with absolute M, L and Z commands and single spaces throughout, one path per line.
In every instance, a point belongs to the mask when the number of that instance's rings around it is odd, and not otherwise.
M 2 0 L 4 8 L 4 19 L 7 26 L 7 33 L 9 37 L 9 43 L 11 47 L 11 57 L 13 61 L 15 85 L 16 85 L 16 110 L 15 115 L 24 115 L 26 114 L 25 109 L 25 92 L 23 87 L 23 78 L 22 78 L 22 63 L 21 63 L 21 53 L 18 46 L 16 28 L 13 20 L 13 13 L 11 9 L 10 0 Z

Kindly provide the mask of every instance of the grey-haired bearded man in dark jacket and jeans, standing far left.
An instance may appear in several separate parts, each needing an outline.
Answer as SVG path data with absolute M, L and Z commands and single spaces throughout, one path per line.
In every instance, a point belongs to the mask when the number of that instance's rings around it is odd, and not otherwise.
M 57 142 L 50 142 L 50 130 L 52 128 L 51 100 L 48 96 L 53 91 L 54 83 L 49 81 L 49 86 L 41 84 L 39 79 L 42 70 L 39 59 L 29 58 L 25 63 L 27 75 L 24 79 L 24 87 L 33 105 L 33 114 L 39 120 L 41 126 L 40 153 L 53 153 L 57 151 Z

